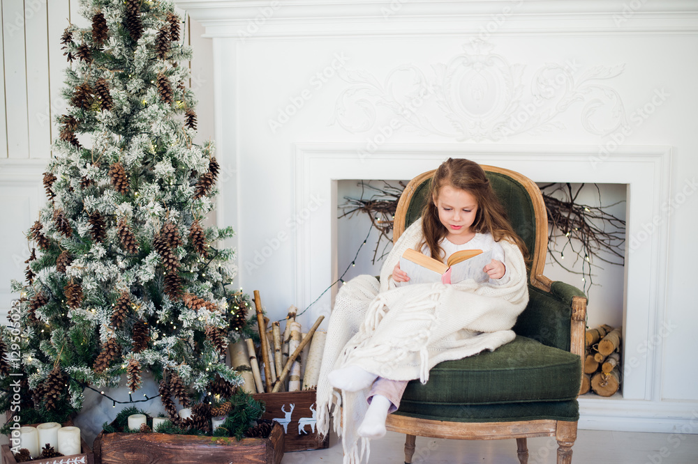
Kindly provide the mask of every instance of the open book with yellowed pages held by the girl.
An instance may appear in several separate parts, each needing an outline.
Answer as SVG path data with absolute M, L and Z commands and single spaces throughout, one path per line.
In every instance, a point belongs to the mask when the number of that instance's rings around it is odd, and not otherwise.
M 410 277 L 404 284 L 457 284 L 466 279 L 484 282 L 489 275 L 482 268 L 490 261 L 491 250 L 483 253 L 481 249 L 463 249 L 449 256 L 444 264 L 410 248 L 400 258 L 400 269 Z

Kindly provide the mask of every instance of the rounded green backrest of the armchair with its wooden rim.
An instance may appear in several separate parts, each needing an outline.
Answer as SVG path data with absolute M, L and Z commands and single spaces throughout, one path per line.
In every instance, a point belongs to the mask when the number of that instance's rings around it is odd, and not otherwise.
M 482 165 L 494 192 L 507 212 L 507 218 L 528 247 L 530 284 L 547 287 L 543 277 L 548 243 L 548 221 L 543 196 L 537 185 L 526 176 L 509 169 Z M 422 207 L 428 198 L 429 184 L 434 171 L 413 178 L 398 201 L 393 225 L 393 241 L 396 242 L 405 229 L 422 215 Z

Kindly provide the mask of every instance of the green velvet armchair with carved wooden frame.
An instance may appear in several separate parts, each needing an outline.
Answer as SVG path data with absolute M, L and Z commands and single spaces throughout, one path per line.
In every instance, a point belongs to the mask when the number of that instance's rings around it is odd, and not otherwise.
M 521 464 L 528 462 L 526 438 L 554 436 L 557 463 L 572 462 L 577 438 L 584 358 L 586 297 L 542 274 L 548 223 L 538 187 L 519 173 L 483 166 L 531 262 L 529 302 L 519 316 L 516 339 L 493 352 L 438 364 L 429 382 L 413 380 L 387 429 L 405 433 L 405 462 L 417 436 L 458 440 L 515 438 Z M 433 171 L 414 178 L 397 206 L 393 239 L 419 217 Z

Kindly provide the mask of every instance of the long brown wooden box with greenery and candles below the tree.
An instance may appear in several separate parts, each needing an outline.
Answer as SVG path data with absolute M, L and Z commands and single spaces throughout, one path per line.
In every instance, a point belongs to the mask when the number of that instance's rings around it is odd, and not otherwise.
M 104 433 L 94 439 L 96 464 L 279 464 L 283 428 L 274 424 L 269 438 L 207 437 L 167 433 Z

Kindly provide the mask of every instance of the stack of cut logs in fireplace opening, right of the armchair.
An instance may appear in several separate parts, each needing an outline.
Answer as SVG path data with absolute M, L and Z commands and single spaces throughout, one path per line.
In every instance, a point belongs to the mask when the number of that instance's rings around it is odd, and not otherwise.
M 587 355 L 579 394 L 590 389 L 600 396 L 613 396 L 621 387 L 621 327 L 601 325 L 586 332 Z

